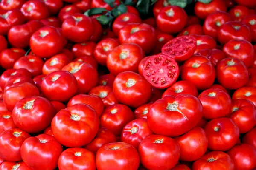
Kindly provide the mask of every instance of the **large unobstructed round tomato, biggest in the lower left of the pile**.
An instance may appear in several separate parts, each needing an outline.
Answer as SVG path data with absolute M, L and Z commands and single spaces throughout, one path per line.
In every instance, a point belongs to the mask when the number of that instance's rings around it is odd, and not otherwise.
M 96 136 L 98 129 L 99 116 L 86 104 L 62 109 L 52 119 L 52 133 L 66 147 L 82 147 L 88 144 Z

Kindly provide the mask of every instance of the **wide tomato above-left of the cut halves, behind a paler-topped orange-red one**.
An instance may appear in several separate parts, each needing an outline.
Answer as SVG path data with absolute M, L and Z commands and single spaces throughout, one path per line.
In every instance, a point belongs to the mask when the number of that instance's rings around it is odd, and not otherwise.
M 149 54 L 155 47 L 157 34 L 152 26 L 144 23 L 128 23 L 119 31 L 119 41 L 123 43 L 134 43 Z

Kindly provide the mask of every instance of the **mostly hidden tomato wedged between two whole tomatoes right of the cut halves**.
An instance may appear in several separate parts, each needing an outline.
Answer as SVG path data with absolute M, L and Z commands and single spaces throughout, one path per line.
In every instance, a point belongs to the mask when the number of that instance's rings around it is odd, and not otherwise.
M 212 62 L 213 66 L 215 66 L 217 62 L 226 58 L 225 54 L 218 49 L 202 49 L 198 51 L 195 55 L 207 57 L 210 60 L 210 62 Z

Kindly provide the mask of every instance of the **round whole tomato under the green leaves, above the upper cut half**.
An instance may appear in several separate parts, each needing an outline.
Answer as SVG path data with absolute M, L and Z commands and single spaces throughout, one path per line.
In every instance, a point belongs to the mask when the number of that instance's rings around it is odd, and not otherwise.
M 187 14 L 179 6 L 166 6 L 157 15 L 157 27 L 167 34 L 176 34 L 186 26 Z

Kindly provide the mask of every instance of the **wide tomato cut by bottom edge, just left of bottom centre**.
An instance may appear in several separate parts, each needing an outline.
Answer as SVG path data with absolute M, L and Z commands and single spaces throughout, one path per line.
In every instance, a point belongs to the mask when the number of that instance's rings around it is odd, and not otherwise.
M 137 170 L 140 157 L 137 150 L 125 142 L 105 144 L 96 154 L 97 170 Z

